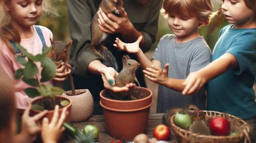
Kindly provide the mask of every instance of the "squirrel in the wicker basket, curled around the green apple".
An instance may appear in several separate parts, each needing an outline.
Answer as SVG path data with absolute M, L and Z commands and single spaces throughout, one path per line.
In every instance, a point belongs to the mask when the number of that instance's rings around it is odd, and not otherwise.
M 183 108 L 172 108 L 171 110 L 167 110 L 167 112 L 163 116 L 163 122 L 171 127 L 170 119 L 177 112 L 184 112 L 188 114 L 193 120 L 192 125 L 190 125 L 189 131 L 196 134 L 210 135 L 210 128 L 205 124 L 205 115 L 204 112 L 199 110 L 195 105 L 186 103 L 185 110 Z

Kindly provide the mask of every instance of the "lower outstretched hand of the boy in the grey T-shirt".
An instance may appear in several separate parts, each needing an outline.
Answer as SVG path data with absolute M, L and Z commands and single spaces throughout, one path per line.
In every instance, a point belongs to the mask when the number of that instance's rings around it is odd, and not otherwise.
M 155 67 L 154 65 L 151 65 L 151 68 L 146 68 L 146 70 L 143 70 L 145 77 L 147 77 L 149 80 L 165 85 L 168 82 L 168 67 L 169 64 L 165 64 L 165 69 L 162 70 L 159 67 Z

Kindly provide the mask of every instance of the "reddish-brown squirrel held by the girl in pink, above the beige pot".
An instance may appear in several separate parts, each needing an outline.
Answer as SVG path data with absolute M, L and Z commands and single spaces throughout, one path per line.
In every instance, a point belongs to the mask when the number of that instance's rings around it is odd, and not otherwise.
M 62 41 L 52 41 L 50 38 L 52 49 L 48 52 L 46 57 L 52 59 L 52 61 L 56 64 L 56 66 L 59 68 L 60 63 L 64 62 L 65 66 L 68 62 L 68 47 L 72 44 L 72 40 L 69 41 L 67 44 L 65 44 Z M 68 72 L 68 68 L 66 67 L 64 71 Z M 74 88 L 74 82 L 72 75 L 69 74 L 69 80 L 72 88 L 72 95 L 76 95 L 75 88 Z

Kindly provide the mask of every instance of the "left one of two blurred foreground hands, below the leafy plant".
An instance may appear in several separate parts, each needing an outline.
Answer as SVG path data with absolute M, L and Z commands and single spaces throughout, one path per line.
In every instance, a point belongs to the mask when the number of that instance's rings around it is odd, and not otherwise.
M 41 131 L 41 124 L 39 120 L 47 113 L 45 110 L 33 117 L 30 117 L 30 110 L 31 104 L 29 104 L 28 108 L 26 108 L 22 115 L 22 131 L 19 134 L 19 137 L 23 138 L 23 141 L 28 143 L 32 143 L 37 138 L 37 133 Z

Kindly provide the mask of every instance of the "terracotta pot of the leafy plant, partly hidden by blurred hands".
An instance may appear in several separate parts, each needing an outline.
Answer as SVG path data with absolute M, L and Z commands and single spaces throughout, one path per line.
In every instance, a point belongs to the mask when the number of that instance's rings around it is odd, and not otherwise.
M 32 101 L 31 101 L 31 104 L 35 104 L 35 102 L 38 102 L 38 100 L 42 100 L 43 97 L 38 97 L 38 98 L 34 98 Z M 66 116 L 66 119 L 65 119 L 65 122 L 67 123 L 70 123 L 70 115 L 71 115 L 71 104 L 72 104 L 72 101 L 71 99 L 67 98 L 67 97 L 64 97 L 64 96 L 56 96 L 56 98 L 64 98 L 65 100 L 68 100 L 69 101 L 69 104 L 66 106 L 68 107 L 67 111 L 68 111 L 68 115 Z M 59 115 L 62 113 L 62 110 L 63 108 L 60 108 L 59 109 Z M 35 114 L 38 114 L 40 113 L 41 111 L 35 111 L 35 110 L 31 110 L 30 111 L 30 116 L 34 116 Z M 52 119 L 52 116 L 53 116 L 53 113 L 54 113 L 54 110 L 49 110 L 45 117 L 47 117 L 49 119 L 49 121 L 51 121 Z

